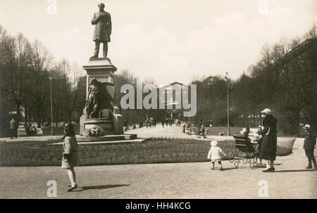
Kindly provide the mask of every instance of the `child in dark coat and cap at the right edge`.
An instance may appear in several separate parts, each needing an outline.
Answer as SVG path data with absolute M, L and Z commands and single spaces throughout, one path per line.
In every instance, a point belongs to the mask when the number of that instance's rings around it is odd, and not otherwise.
M 306 169 L 312 169 L 312 168 L 317 169 L 316 159 L 315 159 L 315 156 L 313 156 L 313 150 L 315 149 L 315 146 L 316 146 L 316 136 L 315 134 L 313 134 L 311 125 L 309 124 L 306 124 L 304 126 L 304 131 L 306 133 L 306 136 L 305 136 L 303 148 L 309 160 L 309 164 L 306 167 Z M 311 166 L 311 162 L 313 162 L 313 167 Z

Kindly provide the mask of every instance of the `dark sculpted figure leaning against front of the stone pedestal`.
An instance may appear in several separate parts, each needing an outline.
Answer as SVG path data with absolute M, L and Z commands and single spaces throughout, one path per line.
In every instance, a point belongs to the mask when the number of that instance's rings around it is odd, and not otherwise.
M 99 90 L 100 82 L 93 78 L 89 84 L 88 99 L 86 102 L 86 110 L 88 118 L 99 117 Z

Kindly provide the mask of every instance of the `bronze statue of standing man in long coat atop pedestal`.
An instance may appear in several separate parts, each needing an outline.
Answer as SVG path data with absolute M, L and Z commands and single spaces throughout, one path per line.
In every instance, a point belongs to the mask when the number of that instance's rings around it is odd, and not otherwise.
M 107 57 L 108 53 L 108 42 L 110 42 L 111 35 L 111 16 L 110 13 L 104 11 L 104 4 L 98 4 L 99 12 L 94 13 L 92 18 L 92 25 L 94 27 L 94 37 L 95 42 L 94 56 L 92 58 L 98 58 L 100 43 L 104 43 L 104 58 Z

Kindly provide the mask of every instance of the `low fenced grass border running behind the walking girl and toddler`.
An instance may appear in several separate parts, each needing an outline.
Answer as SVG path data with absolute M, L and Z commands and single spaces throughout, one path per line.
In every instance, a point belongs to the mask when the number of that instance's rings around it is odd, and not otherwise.
M 292 153 L 296 138 L 278 141 L 277 155 Z M 218 141 L 227 154 L 235 150 L 234 140 Z M 209 141 L 180 138 L 149 138 L 142 144 L 79 146 L 80 166 L 105 164 L 148 164 L 206 162 Z M 0 143 L 0 166 L 61 166 L 63 146 Z

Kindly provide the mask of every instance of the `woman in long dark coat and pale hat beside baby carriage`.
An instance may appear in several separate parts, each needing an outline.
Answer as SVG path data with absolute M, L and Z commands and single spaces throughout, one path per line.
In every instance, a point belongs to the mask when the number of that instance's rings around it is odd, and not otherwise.
M 260 159 L 266 160 L 266 170 L 263 172 L 274 172 L 274 160 L 276 158 L 276 145 L 278 143 L 278 135 L 276 123 L 278 120 L 271 115 L 270 109 L 261 111 L 265 115 L 262 126 L 264 129 L 259 131 L 262 136 Z

